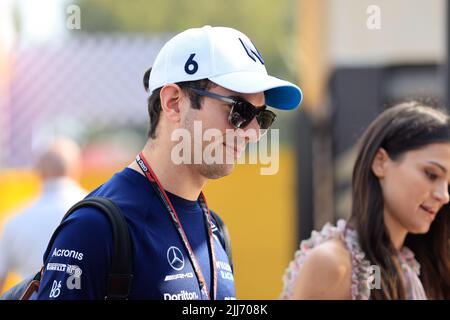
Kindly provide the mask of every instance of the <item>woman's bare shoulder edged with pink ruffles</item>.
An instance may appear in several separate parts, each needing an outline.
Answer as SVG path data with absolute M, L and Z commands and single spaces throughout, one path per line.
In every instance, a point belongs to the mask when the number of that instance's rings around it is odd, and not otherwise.
M 286 270 L 281 298 L 364 299 L 364 266 L 356 232 L 344 220 L 327 224 L 301 242 Z

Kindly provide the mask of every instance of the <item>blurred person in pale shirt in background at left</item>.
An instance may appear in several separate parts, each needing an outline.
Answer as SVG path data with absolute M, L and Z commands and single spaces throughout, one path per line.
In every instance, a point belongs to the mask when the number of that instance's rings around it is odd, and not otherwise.
M 79 147 L 66 138 L 56 139 L 39 156 L 42 194 L 5 224 L 0 240 L 0 292 L 8 272 L 27 277 L 39 270 L 42 252 L 64 213 L 86 196 L 76 182 L 79 165 Z

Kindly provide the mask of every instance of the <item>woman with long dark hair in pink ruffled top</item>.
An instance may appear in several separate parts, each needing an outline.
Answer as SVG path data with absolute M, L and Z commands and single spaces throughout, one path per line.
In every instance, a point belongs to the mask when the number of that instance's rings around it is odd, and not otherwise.
M 302 241 L 283 299 L 450 299 L 450 119 L 387 109 L 360 141 L 350 219 Z

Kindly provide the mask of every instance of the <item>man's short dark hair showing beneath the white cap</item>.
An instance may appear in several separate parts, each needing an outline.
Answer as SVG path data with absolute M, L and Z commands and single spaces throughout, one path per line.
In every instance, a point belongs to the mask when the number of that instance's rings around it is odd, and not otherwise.
M 149 80 L 150 73 L 152 72 L 152 68 L 148 69 L 144 73 L 144 88 L 145 91 L 149 91 Z M 191 100 L 191 106 L 194 109 L 200 109 L 201 107 L 201 97 L 199 95 L 194 94 L 189 88 L 206 90 L 213 87 L 215 84 L 208 79 L 201 79 L 196 81 L 183 81 L 176 83 L 183 91 L 187 92 L 189 95 L 189 99 Z M 148 97 L 148 115 L 150 117 L 150 126 L 148 129 L 148 138 L 155 139 L 156 138 L 156 127 L 158 126 L 159 114 L 161 113 L 161 100 L 160 94 L 161 88 L 153 90 L 150 97 Z

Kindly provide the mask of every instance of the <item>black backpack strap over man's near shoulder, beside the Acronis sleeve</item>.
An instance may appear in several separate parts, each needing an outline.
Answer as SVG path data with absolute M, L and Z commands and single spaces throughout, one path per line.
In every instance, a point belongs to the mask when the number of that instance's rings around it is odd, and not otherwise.
M 128 298 L 133 280 L 132 248 L 128 232 L 128 224 L 120 208 L 111 200 L 104 197 L 92 197 L 81 200 L 70 208 L 61 222 L 77 209 L 94 207 L 108 217 L 112 227 L 114 253 L 111 271 L 106 285 L 106 300 L 124 300 Z M 52 246 L 53 244 L 49 244 Z

